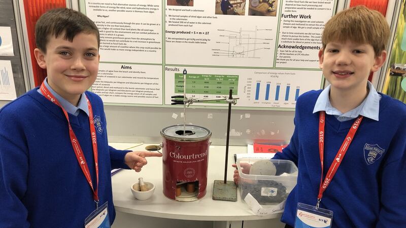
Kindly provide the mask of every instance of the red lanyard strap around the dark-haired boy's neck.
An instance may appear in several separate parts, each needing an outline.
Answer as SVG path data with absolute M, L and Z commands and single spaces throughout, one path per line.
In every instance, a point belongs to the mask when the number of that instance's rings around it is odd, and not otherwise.
M 73 129 L 71 127 L 71 123 L 69 122 L 69 116 L 67 115 L 66 110 L 59 104 L 58 100 L 54 97 L 54 95 L 48 90 L 48 88 L 45 86 L 44 83 L 41 84 L 40 87 L 41 93 L 51 102 L 53 102 L 54 104 L 58 105 L 67 120 L 67 124 L 69 126 L 69 136 L 71 138 L 71 143 L 72 143 L 72 147 L 75 150 L 75 155 L 76 158 L 78 160 L 79 166 L 82 169 L 83 174 L 85 175 L 87 182 L 89 183 L 92 191 L 93 191 L 93 199 L 94 202 L 96 202 L 96 208 L 98 208 L 98 196 L 97 196 L 97 187 L 94 188 L 93 187 L 93 183 L 92 183 L 92 179 L 90 176 L 90 171 L 89 171 L 89 167 L 87 166 L 87 162 L 85 159 L 85 156 L 83 155 L 83 150 L 80 147 L 79 141 L 76 138 L 75 133 L 73 132 Z M 94 163 L 95 163 L 95 169 L 96 169 L 96 185 L 98 185 L 98 156 L 97 156 L 97 139 L 96 139 L 96 129 L 94 128 L 94 124 L 93 124 L 93 110 L 92 110 L 92 106 L 90 105 L 90 101 L 89 99 L 87 99 L 87 107 L 89 108 L 89 125 L 90 125 L 90 135 L 92 138 L 92 146 L 93 146 L 93 155 L 94 155 Z M 95 190 L 94 190 L 95 189 Z

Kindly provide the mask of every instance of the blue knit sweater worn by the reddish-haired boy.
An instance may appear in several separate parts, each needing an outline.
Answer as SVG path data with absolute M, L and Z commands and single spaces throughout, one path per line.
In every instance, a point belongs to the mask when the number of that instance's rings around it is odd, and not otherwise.
M 298 98 L 290 144 L 274 157 L 291 160 L 299 169 L 281 219 L 292 226 L 298 202 L 317 202 L 319 113 L 312 112 L 320 93 Z M 379 121 L 362 120 L 321 200 L 320 207 L 334 213 L 332 227 L 406 227 L 406 105 L 381 95 Z M 353 122 L 326 115 L 323 180 Z

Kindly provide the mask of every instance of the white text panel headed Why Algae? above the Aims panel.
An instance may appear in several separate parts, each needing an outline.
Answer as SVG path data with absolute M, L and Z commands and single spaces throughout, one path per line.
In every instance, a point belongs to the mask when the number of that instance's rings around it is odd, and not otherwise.
M 89 0 L 100 32 L 100 61 L 162 64 L 162 1 Z

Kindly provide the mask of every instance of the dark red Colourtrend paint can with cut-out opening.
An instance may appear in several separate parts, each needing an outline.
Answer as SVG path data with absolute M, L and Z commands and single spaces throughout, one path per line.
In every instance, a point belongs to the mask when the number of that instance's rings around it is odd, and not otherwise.
M 209 129 L 195 125 L 162 129 L 163 195 L 167 198 L 188 202 L 206 195 L 211 135 Z

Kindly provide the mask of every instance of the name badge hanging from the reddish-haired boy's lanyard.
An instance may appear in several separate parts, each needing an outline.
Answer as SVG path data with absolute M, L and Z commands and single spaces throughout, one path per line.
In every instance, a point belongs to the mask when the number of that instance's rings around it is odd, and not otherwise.
M 323 208 L 316 208 L 312 205 L 297 203 L 296 228 L 324 228 L 331 227 L 333 212 Z

